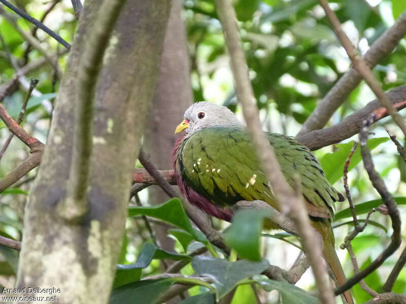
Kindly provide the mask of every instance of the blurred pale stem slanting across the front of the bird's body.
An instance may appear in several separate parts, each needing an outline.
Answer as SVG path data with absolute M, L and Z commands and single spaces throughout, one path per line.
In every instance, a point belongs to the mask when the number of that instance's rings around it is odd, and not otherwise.
M 278 201 L 284 202 L 284 204 L 281 204 L 283 213 L 288 211 L 295 222 L 304 251 L 312 265 L 321 302 L 333 304 L 335 302 L 334 293 L 331 284 L 327 280 L 327 267 L 324 263 L 320 263 L 320 256 L 322 256 L 321 244 L 310 225 L 310 219 L 302 196 L 293 191 L 286 182 L 275 153 L 262 132 L 232 1 L 217 0 L 216 4 L 225 33 L 227 49 L 231 57 L 235 90 L 239 101 L 243 105 L 248 132 L 253 139 L 256 150 L 260 151 L 258 156 L 262 168 Z

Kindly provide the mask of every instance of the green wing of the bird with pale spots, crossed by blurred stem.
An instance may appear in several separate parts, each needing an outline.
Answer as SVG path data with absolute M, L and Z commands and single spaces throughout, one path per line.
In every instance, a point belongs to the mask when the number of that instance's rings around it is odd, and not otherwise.
M 290 137 L 267 135 L 290 185 L 294 174 L 299 174 L 310 215 L 331 217 L 331 205 L 340 194 L 326 180 L 314 155 Z M 182 159 L 188 184 L 213 204 L 262 200 L 279 209 L 245 129 L 202 129 L 187 140 Z

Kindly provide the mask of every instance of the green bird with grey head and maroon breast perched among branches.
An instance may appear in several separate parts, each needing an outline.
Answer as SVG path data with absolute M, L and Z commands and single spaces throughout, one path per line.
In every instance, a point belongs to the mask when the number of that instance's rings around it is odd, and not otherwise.
M 231 221 L 238 201 L 261 200 L 280 210 L 244 125 L 226 107 L 210 102 L 192 104 L 175 133 L 186 130 L 173 150 L 177 184 L 189 202 L 217 218 Z M 344 197 L 326 179 L 316 157 L 293 137 L 266 133 L 287 182 L 299 174 L 301 191 L 313 227 L 324 241 L 323 254 L 339 284 L 346 281 L 334 249 L 333 204 Z M 264 229 L 278 229 L 265 221 Z M 348 303 L 353 303 L 347 291 Z

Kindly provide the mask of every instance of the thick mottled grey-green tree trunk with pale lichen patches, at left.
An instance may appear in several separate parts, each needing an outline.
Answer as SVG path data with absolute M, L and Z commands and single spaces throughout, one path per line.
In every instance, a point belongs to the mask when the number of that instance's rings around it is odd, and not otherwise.
M 59 303 L 108 302 L 170 3 L 128 1 L 118 19 L 95 92 L 89 211 L 68 223 L 56 208 L 71 166 L 78 63 L 99 8 L 98 1 L 86 1 L 27 204 L 18 288 L 59 288 Z

